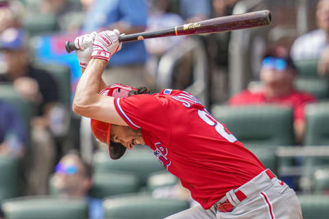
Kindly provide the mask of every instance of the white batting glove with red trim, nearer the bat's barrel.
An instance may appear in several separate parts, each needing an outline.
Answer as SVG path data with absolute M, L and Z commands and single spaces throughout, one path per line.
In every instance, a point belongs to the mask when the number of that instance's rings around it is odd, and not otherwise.
M 102 31 L 95 37 L 94 50 L 91 55 L 92 58 L 101 60 L 110 60 L 110 57 L 117 53 L 122 47 L 122 42 L 119 42 L 120 31 L 114 29 L 113 31 Z

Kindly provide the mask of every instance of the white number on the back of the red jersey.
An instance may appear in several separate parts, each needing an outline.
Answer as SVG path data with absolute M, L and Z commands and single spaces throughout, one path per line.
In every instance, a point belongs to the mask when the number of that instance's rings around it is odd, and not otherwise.
M 236 142 L 236 138 L 230 134 L 227 133 L 224 126 L 221 125 L 210 113 L 208 113 L 206 110 L 197 110 L 197 114 L 199 115 L 202 120 L 204 120 L 208 125 L 215 126 L 216 131 L 221 135 L 223 138 L 228 140 L 229 142 Z

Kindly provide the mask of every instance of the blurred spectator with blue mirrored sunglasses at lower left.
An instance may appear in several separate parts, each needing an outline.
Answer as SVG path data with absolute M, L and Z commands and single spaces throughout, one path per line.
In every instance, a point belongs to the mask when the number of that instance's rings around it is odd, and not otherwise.
M 56 166 L 54 186 L 64 198 L 87 198 L 89 218 L 103 218 L 101 200 L 88 196 L 92 186 L 91 169 L 77 153 L 68 153 Z

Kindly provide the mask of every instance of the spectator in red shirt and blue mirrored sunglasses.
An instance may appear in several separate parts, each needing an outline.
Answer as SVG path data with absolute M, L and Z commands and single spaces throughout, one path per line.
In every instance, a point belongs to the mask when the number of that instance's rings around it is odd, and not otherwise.
M 293 84 L 297 69 L 293 60 L 283 47 L 273 47 L 265 52 L 260 70 L 263 88 L 252 92 L 243 90 L 232 96 L 230 105 L 274 103 L 293 107 L 294 130 L 297 143 L 301 143 L 305 130 L 304 106 L 315 101 L 315 97 L 306 92 L 295 90 Z

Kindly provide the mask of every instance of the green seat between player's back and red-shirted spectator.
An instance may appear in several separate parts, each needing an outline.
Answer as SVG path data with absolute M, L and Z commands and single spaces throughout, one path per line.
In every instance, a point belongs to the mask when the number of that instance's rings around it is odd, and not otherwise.
M 294 144 L 293 112 L 288 107 L 215 105 L 211 111 L 245 146 L 274 148 Z

